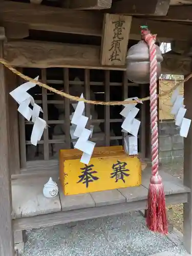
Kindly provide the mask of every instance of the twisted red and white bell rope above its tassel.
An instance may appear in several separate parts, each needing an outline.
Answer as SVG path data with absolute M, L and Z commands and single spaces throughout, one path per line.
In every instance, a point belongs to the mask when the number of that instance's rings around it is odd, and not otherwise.
M 156 56 L 156 35 L 148 30 L 142 30 L 142 37 L 150 51 L 150 112 L 151 112 L 151 133 L 152 133 L 152 175 L 158 176 L 159 169 L 159 142 L 158 142 L 158 112 L 157 112 L 157 56 Z M 160 177 L 159 177 L 160 178 Z M 157 183 L 161 182 L 156 180 Z

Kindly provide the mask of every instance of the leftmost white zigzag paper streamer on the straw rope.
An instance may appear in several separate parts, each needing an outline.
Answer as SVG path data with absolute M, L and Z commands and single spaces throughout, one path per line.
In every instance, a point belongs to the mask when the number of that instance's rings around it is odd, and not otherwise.
M 34 80 L 38 80 L 38 76 Z M 47 123 L 39 117 L 39 113 L 43 111 L 40 106 L 35 103 L 33 97 L 27 92 L 35 86 L 36 84 L 33 82 L 23 83 L 21 86 L 10 92 L 10 95 L 19 104 L 18 112 L 28 121 L 32 118 L 31 121 L 34 125 L 31 134 L 31 144 L 36 146 L 44 133 L 44 129 L 47 127 Z M 33 106 L 33 109 L 29 107 L 30 103 Z

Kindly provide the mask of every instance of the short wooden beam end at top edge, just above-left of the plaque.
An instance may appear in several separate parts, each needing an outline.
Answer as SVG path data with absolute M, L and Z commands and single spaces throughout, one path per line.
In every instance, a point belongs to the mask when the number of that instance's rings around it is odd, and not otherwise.
M 112 0 L 69 0 L 63 4 L 63 7 L 71 9 L 102 10 L 111 8 Z

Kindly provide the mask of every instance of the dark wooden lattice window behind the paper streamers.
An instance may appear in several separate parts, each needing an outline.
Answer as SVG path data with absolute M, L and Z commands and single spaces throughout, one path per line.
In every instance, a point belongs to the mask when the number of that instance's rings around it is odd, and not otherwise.
M 83 93 L 84 97 L 93 100 L 123 100 L 127 97 L 144 96 L 142 86 L 127 82 L 123 71 L 88 70 L 69 68 L 29 69 L 24 68 L 23 73 L 30 77 L 39 75 L 39 80 L 58 90 L 63 90 L 75 96 Z M 23 82 L 23 81 L 20 81 Z M 58 162 L 60 148 L 73 148 L 73 139 L 70 136 L 70 115 L 74 112 L 73 103 L 67 98 L 53 94 L 44 88 L 36 86 L 29 93 L 35 102 L 42 107 L 44 113 L 40 116 L 48 123 L 48 129 L 35 147 L 31 145 L 30 136 L 32 123 L 19 115 L 20 162 L 22 168 L 30 166 L 47 165 Z M 143 108 L 143 105 L 138 105 Z M 86 116 L 89 125 L 94 125 L 92 141 L 96 146 L 122 145 L 121 132 L 122 116 L 119 114 L 122 106 L 102 106 L 86 104 Z M 139 111 L 136 118 L 144 121 L 144 108 Z M 144 147 L 139 137 L 145 137 L 145 124 L 138 135 L 139 151 Z

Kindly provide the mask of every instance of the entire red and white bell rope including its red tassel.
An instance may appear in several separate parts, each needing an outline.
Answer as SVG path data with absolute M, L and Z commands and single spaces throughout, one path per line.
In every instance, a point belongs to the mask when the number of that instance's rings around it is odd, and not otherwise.
M 145 28 L 144 28 L 145 27 Z M 156 36 L 142 26 L 142 39 L 145 40 L 150 52 L 150 112 L 152 133 L 152 177 L 148 187 L 148 208 L 146 223 L 152 231 L 167 233 L 167 217 L 165 206 L 165 194 L 159 170 L 159 147 L 158 147 L 158 113 L 157 113 L 157 57 Z

